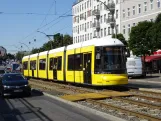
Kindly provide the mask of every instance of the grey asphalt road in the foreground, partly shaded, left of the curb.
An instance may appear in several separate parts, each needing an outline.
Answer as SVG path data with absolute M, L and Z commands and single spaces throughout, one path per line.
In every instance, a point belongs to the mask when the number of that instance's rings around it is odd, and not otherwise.
M 107 121 L 32 92 L 31 97 L 0 97 L 0 121 Z

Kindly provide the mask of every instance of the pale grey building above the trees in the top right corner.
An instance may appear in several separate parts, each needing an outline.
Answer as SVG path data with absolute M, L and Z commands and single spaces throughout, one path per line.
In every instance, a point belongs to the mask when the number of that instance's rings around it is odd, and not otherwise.
M 154 21 L 159 13 L 160 0 L 121 0 L 121 33 L 128 40 L 131 27 L 140 21 Z

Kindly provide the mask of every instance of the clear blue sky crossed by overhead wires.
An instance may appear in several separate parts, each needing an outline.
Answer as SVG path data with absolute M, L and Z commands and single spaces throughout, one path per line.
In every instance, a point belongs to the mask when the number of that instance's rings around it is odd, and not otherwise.
M 0 0 L 0 46 L 7 53 L 40 47 L 48 38 L 37 30 L 72 35 L 72 17 L 60 16 L 71 15 L 74 2 L 56 0 L 55 5 L 55 0 Z

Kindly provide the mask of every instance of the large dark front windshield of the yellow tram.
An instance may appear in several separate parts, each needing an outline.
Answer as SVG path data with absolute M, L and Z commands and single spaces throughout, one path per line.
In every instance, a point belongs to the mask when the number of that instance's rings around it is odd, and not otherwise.
M 102 47 L 101 51 L 96 51 L 95 60 L 96 73 L 126 73 L 126 61 L 123 47 Z

